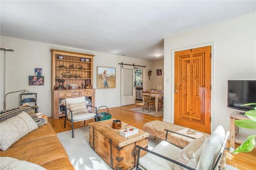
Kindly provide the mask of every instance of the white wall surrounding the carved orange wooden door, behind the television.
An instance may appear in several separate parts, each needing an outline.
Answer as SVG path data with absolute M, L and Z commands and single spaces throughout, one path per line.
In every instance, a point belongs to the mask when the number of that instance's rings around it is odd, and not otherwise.
M 212 128 L 230 129 L 227 107 L 228 80 L 256 79 L 256 13 L 215 23 L 164 39 L 164 121 L 172 122 L 172 51 L 214 43 L 212 65 Z

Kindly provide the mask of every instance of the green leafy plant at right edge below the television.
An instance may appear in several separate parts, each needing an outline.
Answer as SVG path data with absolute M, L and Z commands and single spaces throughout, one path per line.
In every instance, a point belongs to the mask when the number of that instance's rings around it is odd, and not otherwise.
M 248 106 L 248 105 L 256 105 L 256 103 L 249 103 L 241 106 Z M 254 110 L 246 111 L 244 115 L 249 117 L 250 120 L 235 120 L 235 124 L 238 127 L 243 127 L 246 129 L 256 129 L 256 107 L 254 107 Z M 248 136 L 246 141 L 244 141 L 238 148 L 236 148 L 233 153 L 236 154 L 240 152 L 252 151 L 255 147 L 255 138 L 256 138 L 256 135 Z

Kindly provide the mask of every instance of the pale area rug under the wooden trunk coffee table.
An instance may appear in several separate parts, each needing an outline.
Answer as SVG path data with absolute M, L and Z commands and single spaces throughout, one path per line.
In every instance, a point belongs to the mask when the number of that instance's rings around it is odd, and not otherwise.
M 68 153 L 70 162 L 76 170 L 112 170 L 90 147 L 89 135 L 89 126 L 74 129 L 74 138 L 72 138 L 72 131 L 57 133 L 60 142 Z M 152 149 L 161 140 L 154 140 L 154 137 L 150 135 L 148 138 L 149 149 Z

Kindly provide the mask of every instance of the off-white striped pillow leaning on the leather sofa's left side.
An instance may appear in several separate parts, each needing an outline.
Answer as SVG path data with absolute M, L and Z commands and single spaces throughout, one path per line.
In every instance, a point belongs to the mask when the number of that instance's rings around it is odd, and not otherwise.
M 20 138 L 38 128 L 36 122 L 22 111 L 20 114 L 0 123 L 0 149 L 6 150 Z

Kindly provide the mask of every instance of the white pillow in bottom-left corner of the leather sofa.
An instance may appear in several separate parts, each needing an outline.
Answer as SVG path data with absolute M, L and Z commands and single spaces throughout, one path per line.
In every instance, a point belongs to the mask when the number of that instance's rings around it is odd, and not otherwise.
M 46 170 L 42 166 L 10 157 L 0 157 L 1 170 Z

